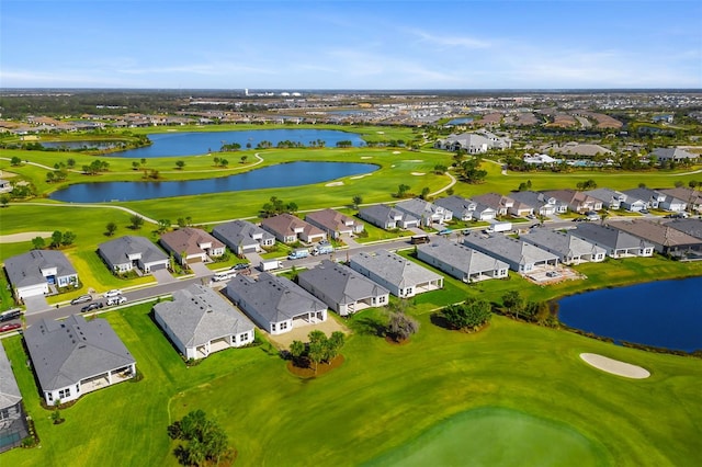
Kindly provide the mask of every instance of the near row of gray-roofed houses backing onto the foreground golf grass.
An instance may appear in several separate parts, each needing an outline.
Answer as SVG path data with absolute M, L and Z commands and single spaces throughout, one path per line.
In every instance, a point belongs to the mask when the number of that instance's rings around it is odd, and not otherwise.
M 437 237 L 417 247 L 417 258 L 464 282 L 475 282 L 506 277 L 509 269 L 529 274 L 559 263 L 602 261 L 607 255 L 649 257 L 654 250 L 669 252 L 678 247 L 702 252 L 700 219 L 613 224 L 582 224 L 565 232 L 534 228 L 518 239 L 471 232 L 462 243 Z M 643 239 L 654 234 L 660 237 L 657 241 Z M 250 344 L 256 326 L 280 334 L 299 323 L 325 321 L 328 308 L 348 316 L 386 305 L 390 294 L 408 298 L 442 287 L 441 274 L 377 250 L 351 257 L 348 265 L 324 260 L 301 272 L 297 284 L 269 273 L 258 278 L 237 276 L 223 294 L 192 284 L 173 293 L 171 301 L 156 304 L 154 316 L 173 346 L 185 358 L 197 360 Z M 100 318 L 43 319 L 26 329 L 24 339 L 47 405 L 75 400 L 136 375 L 136 361 Z M 0 374 L 5 367 L 0 354 Z M 23 437 L 26 429 L 16 422 L 23 419 L 21 396 L 11 381 L 0 378 L 0 396 L 14 440 Z

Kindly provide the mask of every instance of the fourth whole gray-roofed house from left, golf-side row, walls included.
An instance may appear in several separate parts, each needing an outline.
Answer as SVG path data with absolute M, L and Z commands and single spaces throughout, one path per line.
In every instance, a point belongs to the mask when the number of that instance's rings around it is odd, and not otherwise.
M 353 315 L 369 307 L 382 307 L 389 300 L 387 288 L 349 266 L 329 260 L 301 272 L 297 283 L 339 316 Z

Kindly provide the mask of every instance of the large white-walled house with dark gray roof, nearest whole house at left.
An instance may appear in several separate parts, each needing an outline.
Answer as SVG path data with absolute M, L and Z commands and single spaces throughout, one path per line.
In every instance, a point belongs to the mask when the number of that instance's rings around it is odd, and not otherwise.
M 24 341 L 48 406 L 76 400 L 136 375 L 136 361 L 102 318 L 43 318 L 24 331 Z

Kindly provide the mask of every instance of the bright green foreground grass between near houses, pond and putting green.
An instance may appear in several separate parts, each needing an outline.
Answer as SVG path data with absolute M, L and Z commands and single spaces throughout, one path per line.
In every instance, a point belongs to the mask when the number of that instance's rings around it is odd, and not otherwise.
M 467 293 L 449 286 L 458 295 Z M 495 299 L 498 292 L 488 288 L 485 283 L 484 291 L 469 293 Z M 186 368 L 148 317 L 149 305 L 105 314 L 145 378 L 83 397 L 63 411 L 67 421 L 61 425 L 52 425 L 49 412 L 38 406 L 20 339 L 5 339 L 42 448 L 11 451 L 0 463 L 52 465 L 70 457 L 77 466 L 174 465 L 166 426 L 197 408 L 225 428 L 240 465 L 395 459 L 406 452 L 403 446 L 417 451 L 424 433 L 444 430 L 446 420 L 471 418 L 486 407 L 557 426 L 561 435 L 513 432 L 514 446 L 533 446 L 533 453 L 552 443 L 561 446 L 553 447 L 554 455 L 589 453 L 596 463 L 609 465 L 686 466 L 699 459 L 699 360 L 614 346 L 499 316 L 477 334 L 448 331 L 424 310 L 424 305 L 439 305 L 432 294 L 423 294 L 426 304 L 417 297 L 411 312 L 420 331 L 405 345 L 375 335 L 373 322 L 383 320 L 382 312 L 354 316 L 348 321 L 355 332 L 342 351 L 343 365 L 313 380 L 287 373 L 269 345 L 220 352 Z M 642 365 L 652 377 L 604 374 L 585 364 L 581 352 Z M 476 458 L 494 459 L 492 445 L 485 443 Z

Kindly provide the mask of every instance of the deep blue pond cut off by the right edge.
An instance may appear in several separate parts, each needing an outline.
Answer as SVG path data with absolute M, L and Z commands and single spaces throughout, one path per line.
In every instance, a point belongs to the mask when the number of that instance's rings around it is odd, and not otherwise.
M 559 300 L 567 326 L 616 342 L 702 350 L 702 277 L 605 288 Z

